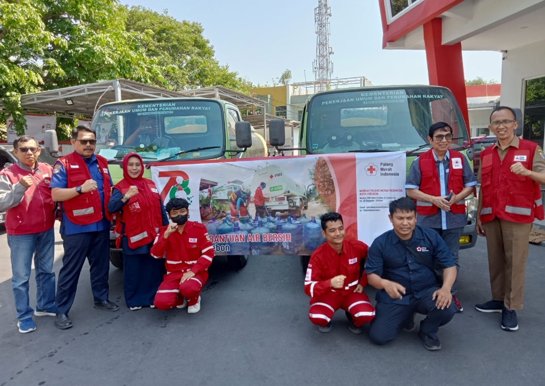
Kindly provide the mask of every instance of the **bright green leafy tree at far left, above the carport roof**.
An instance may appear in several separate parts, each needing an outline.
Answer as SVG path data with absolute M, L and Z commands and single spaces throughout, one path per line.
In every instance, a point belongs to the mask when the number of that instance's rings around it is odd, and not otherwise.
M 21 94 L 114 78 L 165 84 L 118 0 L 0 0 L 1 118 L 24 132 Z

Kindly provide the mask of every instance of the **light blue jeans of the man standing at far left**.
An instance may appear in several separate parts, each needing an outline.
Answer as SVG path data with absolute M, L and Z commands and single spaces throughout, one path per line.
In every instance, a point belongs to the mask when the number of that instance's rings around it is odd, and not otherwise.
M 53 272 L 55 231 L 51 228 L 45 232 L 30 235 L 8 235 L 8 246 L 11 250 L 11 272 L 13 273 L 11 284 L 15 308 L 17 319 L 21 321 L 34 314 L 28 298 L 28 280 L 31 277 L 33 256 L 38 309 L 47 310 L 55 305 L 55 273 Z

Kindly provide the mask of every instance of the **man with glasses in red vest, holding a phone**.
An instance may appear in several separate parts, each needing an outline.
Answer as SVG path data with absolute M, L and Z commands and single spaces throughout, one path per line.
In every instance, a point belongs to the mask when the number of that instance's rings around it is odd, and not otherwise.
M 460 237 L 467 224 L 464 200 L 473 192 L 477 180 L 467 158 L 450 149 L 452 127 L 449 124 L 437 122 L 430 126 L 428 141 L 432 149 L 411 164 L 405 188 L 407 195 L 416 200 L 418 224 L 434 229 L 443 238 L 459 272 Z M 456 297 L 457 291 L 455 282 L 451 288 L 452 302 L 460 313 L 463 307 Z

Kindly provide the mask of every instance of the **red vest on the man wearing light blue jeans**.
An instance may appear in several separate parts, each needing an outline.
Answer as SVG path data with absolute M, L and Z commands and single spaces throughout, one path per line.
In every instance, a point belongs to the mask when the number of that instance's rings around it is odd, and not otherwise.
M 21 203 L 6 211 L 5 229 L 8 235 L 28 235 L 52 228 L 55 223 L 55 205 L 49 189 L 52 173 L 53 169 L 46 163 L 38 163 L 35 171 L 25 170 L 17 164 L 2 171 L 12 185 L 23 176 L 31 176 L 34 181 L 34 185 L 26 190 Z

